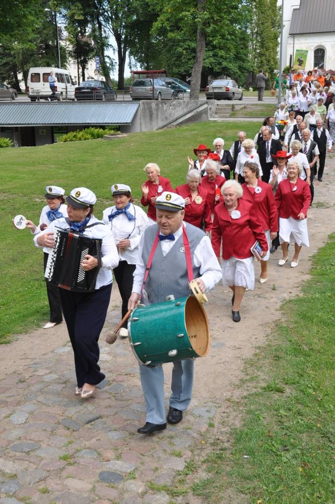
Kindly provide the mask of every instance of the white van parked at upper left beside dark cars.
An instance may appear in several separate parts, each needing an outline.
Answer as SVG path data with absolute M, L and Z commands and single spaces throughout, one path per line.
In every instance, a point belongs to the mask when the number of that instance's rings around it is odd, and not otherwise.
M 28 73 L 27 93 L 30 101 L 47 100 L 51 95 L 51 90 L 48 82 L 50 72 L 53 72 L 53 77 L 57 79 L 55 84 L 55 98 L 57 100 L 74 100 L 75 99 L 75 83 L 72 80 L 68 70 L 51 67 L 31 68 Z

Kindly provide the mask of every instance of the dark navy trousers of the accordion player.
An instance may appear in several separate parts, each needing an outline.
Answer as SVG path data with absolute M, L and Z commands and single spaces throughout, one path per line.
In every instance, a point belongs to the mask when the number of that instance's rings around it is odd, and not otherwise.
M 62 308 L 73 348 L 77 385 L 97 385 L 105 375 L 98 365 L 98 340 L 106 319 L 111 285 L 93 292 L 60 289 Z

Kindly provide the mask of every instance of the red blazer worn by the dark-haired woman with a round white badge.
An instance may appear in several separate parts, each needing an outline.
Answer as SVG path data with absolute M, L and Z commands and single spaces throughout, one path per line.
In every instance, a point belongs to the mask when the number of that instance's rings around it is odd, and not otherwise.
M 262 180 L 258 180 L 258 187 L 261 187 L 262 191 L 260 193 L 255 193 L 254 188 L 248 187 L 246 182 L 242 184 L 242 200 L 249 201 L 249 203 L 254 205 L 263 231 L 269 229 L 271 233 L 275 233 L 278 231 L 279 226 L 277 207 L 274 201 L 272 187 Z

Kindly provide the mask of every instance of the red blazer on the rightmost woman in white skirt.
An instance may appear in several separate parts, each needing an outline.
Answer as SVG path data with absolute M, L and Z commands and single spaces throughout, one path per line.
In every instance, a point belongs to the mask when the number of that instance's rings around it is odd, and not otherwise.
M 294 185 L 297 186 L 296 191 L 292 191 Z M 298 215 L 300 212 L 307 217 L 307 210 L 311 203 L 311 191 L 309 185 L 305 180 L 298 177 L 296 184 L 291 184 L 287 178 L 282 180 L 275 192 L 274 201 L 277 205 L 278 214 L 282 219 L 299 220 Z

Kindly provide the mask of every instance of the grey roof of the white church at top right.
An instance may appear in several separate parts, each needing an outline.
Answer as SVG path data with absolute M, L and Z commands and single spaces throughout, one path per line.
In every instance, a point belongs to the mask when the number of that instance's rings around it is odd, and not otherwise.
M 290 35 L 335 31 L 334 0 L 300 0 L 292 11 Z

